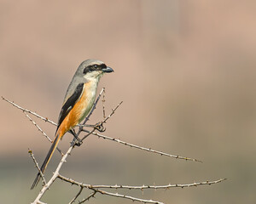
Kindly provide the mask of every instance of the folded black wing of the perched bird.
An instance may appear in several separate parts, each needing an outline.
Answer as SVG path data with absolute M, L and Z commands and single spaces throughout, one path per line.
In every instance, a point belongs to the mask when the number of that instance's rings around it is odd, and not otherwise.
M 67 114 L 72 110 L 72 108 L 76 104 L 77 100 L 80 98 L 80 96 L 83 92 L 83 88 L 84 88 L 84 83 L 79 83 L 79 85 L 75 89 L 72 96 L 70 96 L 67 99 L 66 103 L 62 106 L 57 129 L 59 128 L 59 126 L 61 125 L 61 122 L 63 122 L 63 120 L 65 119 Z

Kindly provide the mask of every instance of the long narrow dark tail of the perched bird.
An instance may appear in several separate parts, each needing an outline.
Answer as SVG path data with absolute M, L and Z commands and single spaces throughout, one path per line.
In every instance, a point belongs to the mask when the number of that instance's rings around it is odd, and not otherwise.
M 57 144 L 59 143 L 59 141 L 60 141 L 60 139 L 61 139 L 61 136 L 62 136 L 62 135 L 61 135 L 60 133 L 58 133 L 58 132 L 56 133 L 55 139 L 54 139 L 53 143 L 51 144 L 51 146 L 50 146 L 50 148 L 49 148 L 49 152 L 48 152 L 47 156 L 46 156 L 45 159 L 44 159 L 44 163 L 43 163 L 42 167 L 40 168 L 40 170 L 41 170 L 42 173 L 44 173 L 44 170 L 45 170 L 45 168 L 47 167 L 51 156 L 52 156 L 53 153 L 55 152 L 55 149 L 56 149 Z M 38 173 L 37 177 L 35 178 L 35 180 L 34 180 L 34 182 L 33 182 L 33 184 L 32 184 L 31 190 L 32 190 L 34 187 L 37 186 L 37 184 L 38 184 L 40 178 L 41 178 L 41 175 L 40 175 L 40 173 Z

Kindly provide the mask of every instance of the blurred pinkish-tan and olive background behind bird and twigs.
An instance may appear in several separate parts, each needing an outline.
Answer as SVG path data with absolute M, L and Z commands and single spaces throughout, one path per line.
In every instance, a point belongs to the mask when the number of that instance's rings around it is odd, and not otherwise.
M 255 203 L 255 1 L 0 1 L 0 94 L 57 121 L 84 59 L 101 59 L 106 111 L 123 105 L 106 135 L 203 161 L 180 161 L 94 136 L 73 150 L 64 176 L 87 184 L 189 184 L 189 189 L 119 190 L 165 203 Z M 1 101 L 0 197 L 30 203 L 49 142 L 22 111 Z M 102 119 L 98 105 L 90 122 Z M 53 138 L 55 127 L 35 119 Z M 72 137 L 60 143 L 67 150 Z M 50 178 L 61 156 L 49 163 Z M 44 202 L 68 203 L 78 188 L 57 180 Z M 115 191 L 113 191 L 115 192 Z M 90 194 L 89 190 L 79 197 Z M 88 203 L 132 203 L 96 195 Z

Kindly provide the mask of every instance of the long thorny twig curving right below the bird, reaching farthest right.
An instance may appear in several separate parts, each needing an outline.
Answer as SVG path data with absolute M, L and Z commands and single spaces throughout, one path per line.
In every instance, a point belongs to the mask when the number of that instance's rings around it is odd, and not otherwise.
M 64 176 L 62 176 L 61 174 L 58 175 L 58 178 L 60 178 L 61 180 L 66 181 L 67 183 L 70 184 L 75 184 L 78 185 L 79 187 L 83 187 L 83 188 L 87 188 L 87 189 L 126 189 L 126 190 L 149 190 L 149 189 L 153 189 L 153 190 L 160 190 L 160 189 L 164 189 L 164 190 L 168 190 L 170 188 L 189 188 L 189 187 L 193 187 L 193 186 L 199 186 L 199 185 L 210 185 L 210 184 L 218 184 L 224 180 L 226 180 L 227 178 L 220 178 L 218 180 L 214 180 L 214 181 L 204 181 L 204 182 L 195 182 L 192 184 L 166 184 L 166 185 L 140 185 L 140 186 L 134 186 L 134 185 L 96 185 L 96 184 L 84 184 L 78 181 L 73 180 L 72 178 L 66 178 Z

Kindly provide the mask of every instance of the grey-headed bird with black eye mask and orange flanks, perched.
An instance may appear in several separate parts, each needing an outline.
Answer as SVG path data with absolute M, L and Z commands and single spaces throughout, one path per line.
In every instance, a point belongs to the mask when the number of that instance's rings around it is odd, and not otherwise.
M 40 167 L 42 173 L 44 173 L 63 135 L 69 131 L 76 137 L 73 127 L 82 122 L 89 114 L 96 99 L 96 90 L 100 78 L 103 74 L 111 72 L 113 72 L 113 69 L 98 59 L 86 59 L 79 65 L 67 88 L 55 131 L 55 139 Z M 31 189 L 37 186 L 40 178 L 41 175 L 38 173 Z

